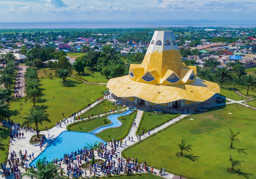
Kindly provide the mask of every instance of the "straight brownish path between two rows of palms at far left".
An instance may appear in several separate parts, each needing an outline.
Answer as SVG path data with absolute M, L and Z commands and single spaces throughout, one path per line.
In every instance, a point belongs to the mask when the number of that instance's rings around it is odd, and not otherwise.
M 24 93 L 25 90 L 25 78 L 24 74 L 26 71 L 26 66 L 25 65 L 19 65 L 18 66 L 18 76 L 15 81 L 15 87 L 14 87 L 14 93 L 13 96 L 16 97 L 24 97 L 26 94 Z M 16 92 L 17 90 L 17 92 Z

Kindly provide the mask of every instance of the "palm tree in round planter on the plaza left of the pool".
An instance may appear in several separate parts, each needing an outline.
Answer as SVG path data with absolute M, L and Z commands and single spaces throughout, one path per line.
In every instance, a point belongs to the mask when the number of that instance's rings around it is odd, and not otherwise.
M 24 113 L 27 116 L 22 117 L 22 119 L 25 119 L 25 121 L 22 123 L 22 125 L 24 126 L 26 125 L 31 125 L 33 123 L 35 123 L 35 127 L 36 127 L 36 135 L 37 137 L 39 137 L 39 133 L 38 133 L 38 124 L 42 125 L 43 121 L 47 121 L 47 122 L 51 122 L 50 119 L 48 119 L 49 114 L 46 113 L 45 110 L 40 109 L 40 108 L 31 108 L 29 110 L 29 113 Z

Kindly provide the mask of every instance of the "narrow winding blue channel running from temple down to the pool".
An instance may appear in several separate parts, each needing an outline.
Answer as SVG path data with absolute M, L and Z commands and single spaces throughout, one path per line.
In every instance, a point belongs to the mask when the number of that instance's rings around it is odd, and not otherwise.
M 122 123 L 117 119 L 118 117 L 120 116 L 125 116 L 125 115 L 128 115 L 130 114 L 131 112 L 133 112 L 133 110 L 135 110 L 136 108 L 129 108 L 129 110 L 121 113 L 121 114 L 113 114 L 113 115 L 110 115 L 108 118 L 109 120 L 112 122 L 111 124 L 109 125 L 106 125 L 106 126 L 101 126 L 91 132 L 89 132 L 90 134 L 97 134 L 97 133 L 100 133 L 102 130 L 105 130 L 107 128 L 114 128 L 114 127 L 118 127 L 118 126 L 121 126 Z

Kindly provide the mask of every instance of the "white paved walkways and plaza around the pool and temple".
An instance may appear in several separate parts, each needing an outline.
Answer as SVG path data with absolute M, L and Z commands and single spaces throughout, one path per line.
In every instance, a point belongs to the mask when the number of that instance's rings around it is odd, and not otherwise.
M 233 104 L 233 103 L 239 103 L 239 104 L 245 105 L 245 104 L 243 104 L 243 102 L 245 102 L 245 100 L 234 101 L 234 100 L 232 100 L 232 99 L 227 99 L 228 101 L 230 101 L 230 102 L 228 102 L 228 103 L 216 104 L 216 97 L 217 97 L 217 96 L 219 96 L 219 95 L 216 94 L 213 98 L 211 98 L 211 99 L 205 101 L 204 103 L 202 103 L 202 104 L 200 104 L 200 105 L 198 105 L 198 106 L 189 107 L 189 108 L 190 108 L 190 109 L 189 109 L 189 113 L 182 114 L 182 115 L 180 115 L 179 117 L 176 117 L 175 119 L 172 119 L 171 121 L 168 121 L 167 123 L 165 123 L 165 124 L 163 124 L 163 125 L 161 125 L 161 126 L 155 128 L 154 130 L 150 131 L 150 135 L 152 135 L 152 134 L 158 132 L 159 130 L 161 130 L 161 129 L 163 129 L 163 128 L 166 128 L 167 126 L 169 126 L 169 125 L 175 123 L 175 121 L 179 121 L 180 119 L 182 119 L 182 118 L 188 116 L 190 113 L 193 113 L 193 111 L 194 111 L 196 108 L 200 107 L 200 106 L 205 106 L 205 107 L 210 108 L 210 107 L 214 107 L 214 106 L 221 106 L 221 105 Z M 223 97 L 223 96 L 220 96 L 220 97 Z M 122 102 L 121 99 L 116 99 L 116 100 Z M 114 101 L 116 101 L 116 100 L 115 100 L 115 99 L 111 99 L 110 101 L 113 101 L 113 102 L 114 102 Z M 91 104 L 91 108 L 92 108 L 94 105 L 96 105 L 97 103 L 98 103 L 98 102 L 95 102 L 95 103 Z M 246 106 L 246 105 L 245 105 L 245 106 Z M 247 105 L 247 106 L 248 106 L 248 105 Z M 134 143 L 136 143 L 136 142 L 139 142 L 139 140 L 138 140 L 137 137 L 136 137 L 136 130 L 137 130 L 138 124 L 139 124 L 139 122 L 140 122 L 140 120 L 141 120 L 141 117 L 142 117 L 142 114 L 143 114 L 143 110 L 149 109 L 148 107 L 145 107 L 145 106 L 135 106 L 135 107 L 138 108 L 138 109 L 137 109 L 138 112 L 137 112 L 136 117 L 135 117 L 135 119 L 134 119 L 134 122 L 136 122 L 136 126 L 135 126 L 135 127 L 134 127 L 134 126 L 131 127 L 131 129 L 130 129 L 130 131 L 129 131 L 129 134 L 123 139 L 122 147 L 120 147 L 120 146 L 117 147 L 118 157 L 120 157 L 120 158 L 122 157 L 122 156 L 121 156 L 121 152 L 125 149 L 125 147 L 130 146 L 130 145 L 132 145 L 132 144 L 134 144 Z M 166 108 L 165 108 L 165 110 L 166 110 Z M 179 109 L 179 108 L 177 108 L 177 109 L 170 109 L 169 111 L 181 113 L 181 109 Z M 184 111 L 186 111 L 186 110 L 184 110 Z M 83 111 L 81 111 L 81 113 L 83 113 L 83 112 L 86 112 L 86 109 L 83 110 Z M 80 113 L 79 113 L 79 114 L 80 114 Z M 104 114 L 101 114 L 101 115 L 104 115 Z M 68 120 L 70 121 L 71 119 L 68 118 Z M 52 142 L 61 132 L 65 131 L 65 130 L 66 130 L 66 126 L 54 127 L 54 128 L 51 128 L 51 129 L 49 129 L 49 130 L 47 130 L 47 131 L 41 131 L 40 133 L 41 133 L 41 134 L 45 134 L 45 136 L 46 136 L 46 138 L 47 138 L 47 140 L 46 140 L 45 143 L 43 144 L 42 150 L 44 150 L 49 144 L 51 144 L 51 142 Z M 11 151 L 14 150 L 16 153 L 18 153 L 19 150 L 21 150 L 22 153 L 24 153 L 25 149 L 27 150 L 28 155 L 33 152 L 33 153 L 34 153 L 34 157 L 38 156 L 38 155 L 41 153 L 39 144 L 35 144 L 35 145 L 29 144 L 29 140 L 30 140 L 31 136 L 32 136 L 32 135 L 35 135 L 35 133 L 32 133 L 32 132 L 27 132 L 27 133 L 25 133 L 25 131 L 20 131 L 20 132 L 23 132 L 23 133 L 24 133 L 24 137 L 25 137 L 25 138 L 24 138 L 24 139 L 16 139 L 16 138 L 14 139 L 13 144 L 10 145 L 10 150 L 9 150 L 9 156 L 8 156 L 8 158 L 10 157 L 10 152 L 11 152 Z M 133 141 L 129 141 L 129 139 L 128 139 L 129 136 L 130 136 L 130 137 L 133 137 Z M 145 137 L 148 137 L 148 136 L 149 136 L 149 134 L 146 132 L 146 133 L 144 134 L 144 136 L 141 136 L 141 139 L 144 139 Z M 126 141 L 126 146 L 124 146 L 125 141 Z M 111 147 L 110 147 L 110 146 L 107 146 L 107 149 L 110 150 Z M 71 151 L 65 151 L 65 152 L 71 152 Z M 64 152 L 64 153 L 65 153 L 65 152 Z M 97 153 L 95 152 L 95 154 L 96 154 L 96 155 L 95 155 L 95 158 L 97 159 L 97 158 L 98 158 L 98 157 L 97 157 Z M 117 157 L 117 158 L 118 158 L 118 157 Z M 116 162 L 118 162 L 117 158 L 114 157 L 112 160 L 115 160 Z M 32 160 L 29 160 L 29 161 L 27 161 L 27 162 L 30 163 L 31 161 L 32 161 Z M 76 160 L 75 160 L 75 161 L 76 161 Z M 65 171 L 66 168 L 67 168 L 67 166 L 66 166 L 65 164 L 62 164 L 61 167 L 64 169 L 64 171 Z M 24 172 L 24 171 L 25 171 L 25 170 L 22 169 L 21 167 L 20 167 L 20 170 L 21 170 L 21 172 Z M 66 172 L 66 171 L 65 171 L 65 172 Z M 145 171 L 145 170 L 142 170 L 142 171 L 139 171 L 139 173 L 140 173 L 140 172 L 146 172 L 146 171 Z M 87 173 L 88 173 L 88 172 L 87 172 Z M 121 172 L 121 173 L 122 173 L 122 172 Z M 159 174 L 159 170 L 154 169 L 154 174 Z M 97 175 L 98 175 L 98 176 L 101 176 L 102 173 L 98 173 Z M 84 176 L 84 174 L 83 174 L 83 176 Z M 88 176 L 88 174 L 87 174 L 87 176 Z M 175 175 L 170 174 L 170 173 L 166 173 L 166 174 L 162 175 L 162 177 L 163 177 L 163 178 L 169 178 L 169 179 L 178 179 L 178 178 L 179 178 L 178 176 L 175 176 Z M 11 176 L 8 176 L 7 178 L 13 178 L 13 176 L 11 175 Z

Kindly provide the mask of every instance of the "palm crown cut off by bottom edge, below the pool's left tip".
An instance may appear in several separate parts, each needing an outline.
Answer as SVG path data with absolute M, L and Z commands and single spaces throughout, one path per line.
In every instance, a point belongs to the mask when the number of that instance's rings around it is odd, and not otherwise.
M 61 168 L 54 165 L 52 162 L 47 163 L 46 157 L 39 159 L 36 162 L 36 169 L 30 167 L 27 169 L 27 173 L 23 173 L 22 177 L 26 176 L 34 179 L 66 179 L 67 176 L 60 176 Z

